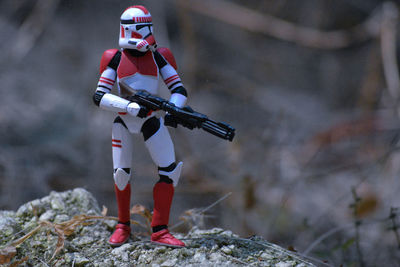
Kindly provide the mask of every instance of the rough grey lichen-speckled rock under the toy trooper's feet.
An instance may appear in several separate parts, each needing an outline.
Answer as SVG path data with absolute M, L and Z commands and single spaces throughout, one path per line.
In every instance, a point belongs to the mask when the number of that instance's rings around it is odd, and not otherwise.
M 96 199 L 81 188 L 52 192 L 22 205 L 17 212 L 0 211 L 0 251 L 4 261 L 13 264 L 28 257 L 27 266 L 314 266 L 260 237 L 240 238 L 220 228 L 194 227 L 186 235 L 176 234 L 187 245 L 181 249 L 153 245 L 143 235 L 113 248 L 107 240 L 116 222 L 109 219 L 78 223 L 60 235 L 65 223 L 74 222 L 74 216 L 82 214 L 101 216 Z M 34 229 L 39 230 L 18 249 L 12 246 L 13 241 Z

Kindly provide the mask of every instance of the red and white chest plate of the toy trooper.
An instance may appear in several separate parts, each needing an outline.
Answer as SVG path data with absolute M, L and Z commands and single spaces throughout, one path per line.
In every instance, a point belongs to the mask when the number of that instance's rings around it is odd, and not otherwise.
M 145 90 L 157 94 L 158 68 L 151 51 L 143 56 L 133 56 L 127 51 L 122 51 L 117 76 L 133 90 Z M 120 91 L 121 96 L 132 93 Z

